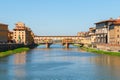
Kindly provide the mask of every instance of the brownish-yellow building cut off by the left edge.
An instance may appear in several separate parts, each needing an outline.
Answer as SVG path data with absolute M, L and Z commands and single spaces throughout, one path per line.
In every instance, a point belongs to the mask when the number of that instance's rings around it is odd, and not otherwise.
M 8 25 L 0 23 L 0 43 L 8 42 Z

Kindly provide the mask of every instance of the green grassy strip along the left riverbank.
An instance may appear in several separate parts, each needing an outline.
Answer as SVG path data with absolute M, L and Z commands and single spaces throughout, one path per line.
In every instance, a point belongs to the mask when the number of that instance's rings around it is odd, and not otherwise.
M 5 52 L 0 52 L 0 58 L 9 56 L 11 54 L 20 53 L 20 52 L 23 52 L 23 51 L 28 51 L 28 50 L 30 50 L 30 48 L 23 47 L 23 48 L 17 48 L 17 49 L 14 49 L 14 50 L 8 50 L 8 51 L 5 51 Z

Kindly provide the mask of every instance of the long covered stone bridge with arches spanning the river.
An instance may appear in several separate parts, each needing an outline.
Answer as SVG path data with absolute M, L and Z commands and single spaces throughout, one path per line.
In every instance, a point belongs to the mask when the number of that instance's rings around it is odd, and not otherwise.
M 44 44 L 46 48 L 49 48 L 52 44 L 62 44 L 66 48 L 69 48 L 70 44 L 83 45 L 81 41 L 82 37 L 79 36 L 35 36 L 36 44 Z

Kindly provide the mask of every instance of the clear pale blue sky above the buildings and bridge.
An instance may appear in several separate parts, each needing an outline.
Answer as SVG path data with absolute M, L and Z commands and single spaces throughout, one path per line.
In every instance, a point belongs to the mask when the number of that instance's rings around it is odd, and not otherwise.
M 120 0 L 0 0 L 0 22 L 24 22 L 36 35 L 76 35 L 120 16 Z

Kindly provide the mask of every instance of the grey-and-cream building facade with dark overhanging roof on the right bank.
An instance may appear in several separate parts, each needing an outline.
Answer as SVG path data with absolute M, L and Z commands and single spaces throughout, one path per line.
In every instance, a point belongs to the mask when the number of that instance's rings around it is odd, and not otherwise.
M 109 43 L 109 26 L 115 22 L 114 19 L 109 19 L 96 24 L 96 43 Z

